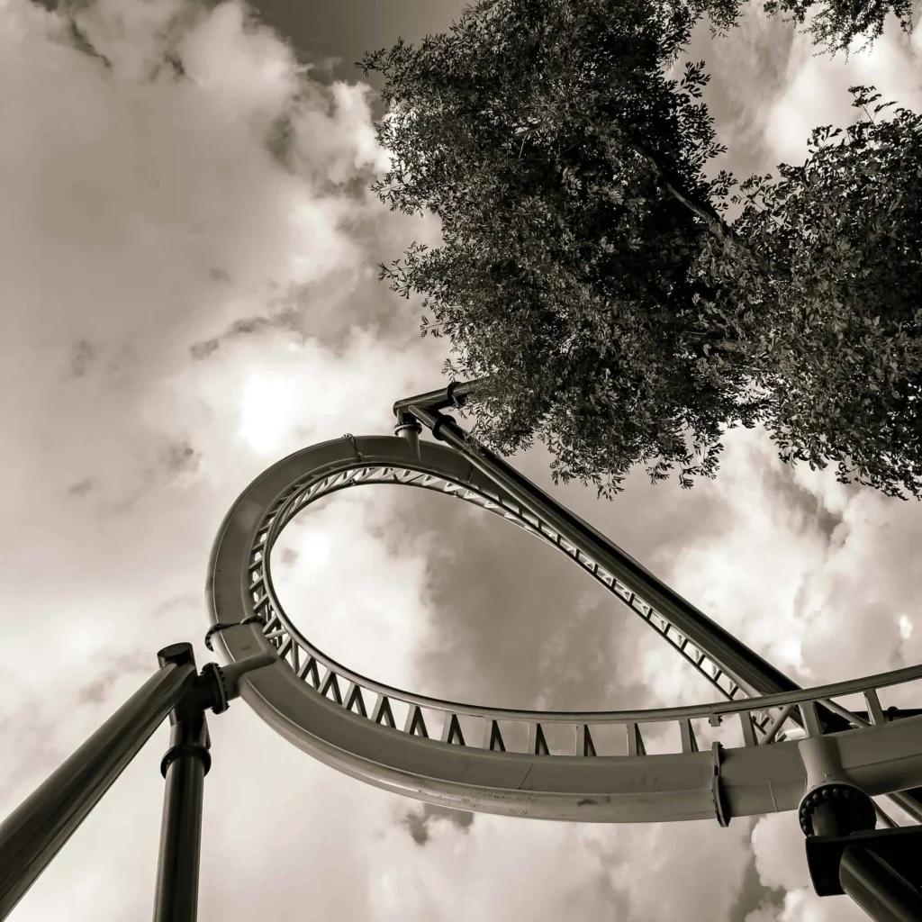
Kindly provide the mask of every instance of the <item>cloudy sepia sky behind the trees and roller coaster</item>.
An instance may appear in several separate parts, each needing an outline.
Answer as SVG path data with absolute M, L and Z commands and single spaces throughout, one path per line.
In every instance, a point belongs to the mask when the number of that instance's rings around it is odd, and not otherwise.
M 212 658 L 208 551 L 251 479 L 302 446 L 390 431 L 396 398 L 442 383 L 419 304 L 376 280 L 439 229 L 367 191 L 387 157 L 350 65 L 460 8 L 0 0 L 0 815 L 162 646 Z M 847 63 L 814 51 L 756 4 L 726 38 L 696 30 L 688 56 L 707 62 L 729 148 L 715 170 L 801 162 L 812 127 L 850 123 L 855 83 L 918 110 L 918 35 L 891 22 Z M 514 464 L 801 684 L 916 664 L 917 503 L 783 467 L 762 431 L 725 443 L 714 482 L 640 472 L 610 503 L 551 487 L 540 445 Z M 292 523 L 276 559 L 303 632 L 413 691 L 598 709 L 711 697 L 582 573 L 462 503 L 345 491 Z M 812 894 L 793 814 L 727 829 L 473 815 L 337 774 L 242 702 L 209 727 L 203 919 L 863 918 Z M 149 915 L 167 737 L 13 922 Z

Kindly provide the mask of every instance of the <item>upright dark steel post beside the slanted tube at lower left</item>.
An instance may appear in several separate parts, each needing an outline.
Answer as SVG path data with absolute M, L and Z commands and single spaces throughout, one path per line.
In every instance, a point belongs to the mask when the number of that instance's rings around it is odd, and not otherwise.
M 192 644 L 172 644 L 158 654 L 161 665 L 191 664 Z M 170 749 L 160 763 L 166 779 L 160 822 L 160 857 L 154 922 L 195 922 L 202 845 L 205 775 L 211 766 L 205 698 L 190 689 L 170 713 Z

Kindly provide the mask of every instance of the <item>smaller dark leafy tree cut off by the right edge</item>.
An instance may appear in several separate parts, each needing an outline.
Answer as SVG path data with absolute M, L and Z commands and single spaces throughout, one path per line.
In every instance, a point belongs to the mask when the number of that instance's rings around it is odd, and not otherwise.
M 706 244 L 702 266 L 726 303 L 771 317 L 751 368 L 782 457 L 832 461 L 844 482 L 919 497 L 922 117 L 897 109 L 882 120 L 893 103 L 869 112 L 873 89 L 849 89 L 866 118 L 845 133 L 817 128 L 803 166 L 741 187 L 735 230 L 786 276 L 740 274 L 726 254 L 711 262 Z M 709 309 L 720 313 L 720 301 Z

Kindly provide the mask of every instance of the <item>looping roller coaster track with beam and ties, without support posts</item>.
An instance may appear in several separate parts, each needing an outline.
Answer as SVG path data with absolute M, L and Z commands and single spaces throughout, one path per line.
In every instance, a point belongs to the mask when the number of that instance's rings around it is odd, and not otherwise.
M 445 702 L 361 676 L 318 650 L 278 604 L 272 546 L 293 516 L 322 496 L 368 483 L 398 483 L 473 502 L 580 564 L 653 626 L 730 700 L 640 712 L 532 712 Z M 753 815 L 798 807 L 806 772 L 798 742 L 778 728 L 798 708 L 821 733 L 816 704 L 855 730 L 828 739 L 869 794 L 922 785 L 915 740 L 922 717 L 886 723 L 877 690 L 922 678 L 922 667 L 822 689 L 739 700 L 740 690 L 644 600 L 568 546 L 451 449 L 351 436 L 314 445 L 270 467 L 222 524 L 207 578 L 212 623 L 230 660 L 259 649 L 278 663 L 242 680 L 242 697 L 302 750 L 371 784 L 467 810 L 582 822 L 656 822 Z M 247 621 L 247 623 L 240 623 Z M 863 695 L 867 718 L 833 701 Z M 712 730 L 711 728 L 716 728 Z M 709 749 L 699 739 L 735 737 Z M 674 740 L 674 751 L 646 753 Z M 668 747 L 668 742 L 666 743 Z M 703 751 L 700 751 L 703 750 Z M 899 772 L 893 765 L 899 762 Z

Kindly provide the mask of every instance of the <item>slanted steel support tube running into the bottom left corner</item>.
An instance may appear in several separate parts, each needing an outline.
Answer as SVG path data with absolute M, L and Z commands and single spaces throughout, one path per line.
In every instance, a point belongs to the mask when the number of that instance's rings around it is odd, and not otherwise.
M 0 825 L 0 919 L 6 918 L 77 826 L 195 680 L 195 666 L 160 668 Z

